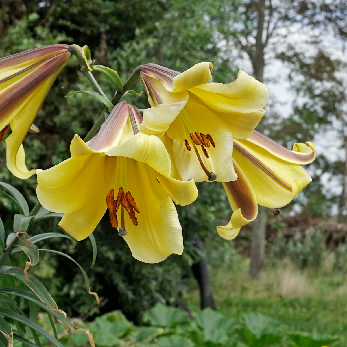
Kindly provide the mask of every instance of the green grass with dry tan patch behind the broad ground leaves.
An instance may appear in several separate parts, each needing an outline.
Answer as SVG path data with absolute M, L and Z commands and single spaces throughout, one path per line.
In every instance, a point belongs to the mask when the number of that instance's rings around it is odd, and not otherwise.
M 220 313 L 239 318 L 259 312 L 288 330 L 336 336 L 333 346 L 347 346 L 347 274 L 333 273 L 331 256 L 320 269 L 297 269 L 288 259 L 268 266 L 258 280 L 249 278 L 249 259 L 211 272 L 212 290 Z M 187 296 L 198 309 L 197 291 Z

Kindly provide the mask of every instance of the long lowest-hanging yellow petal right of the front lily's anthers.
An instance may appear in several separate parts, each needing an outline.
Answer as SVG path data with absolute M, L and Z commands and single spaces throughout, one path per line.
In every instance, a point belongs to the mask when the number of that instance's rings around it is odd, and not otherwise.
M 145 163 L 126 159 L 127 185 L 140 211 L 134 226 L 125 214 L 124 236 L 135 259 L 158 263 L 172 253 L 182 254 L 182 229 L 174 203 L 156 180 L 158 174 Z M 120 212 L 118 211 L 120 220 Z

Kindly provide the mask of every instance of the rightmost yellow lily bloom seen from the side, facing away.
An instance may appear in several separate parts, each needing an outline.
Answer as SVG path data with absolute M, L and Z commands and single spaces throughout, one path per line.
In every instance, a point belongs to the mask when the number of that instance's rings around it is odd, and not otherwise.
M 276 212 L 312 181 L 301 164 L 311 163 L 315 151 L 312 142 L 296 143 L 290 151 L 254 131 L 247 139 L 235 139 L 233 158 L 237 180 L 223 186 L 234 212 L 228 225 L 217 227 L 227 240 L 257 217 L 258 205 Z

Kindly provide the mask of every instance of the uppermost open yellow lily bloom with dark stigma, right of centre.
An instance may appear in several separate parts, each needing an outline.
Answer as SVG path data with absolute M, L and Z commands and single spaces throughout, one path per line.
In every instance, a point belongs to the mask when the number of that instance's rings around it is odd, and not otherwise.
M 155 64 L 139 69 L 148 101 L 157 109 L 144 111 L 140 131 L 162 139 L 174 162 L 172 175 L 235 180 L 233 137 L 252 134 L 265 113 L 268 88 L 244 71 L 232 83 L 208 83 L 210 62 L 181 74 Z

